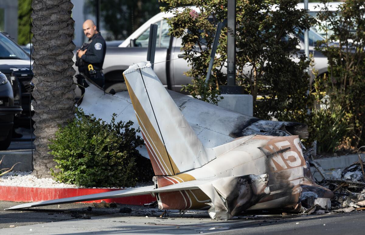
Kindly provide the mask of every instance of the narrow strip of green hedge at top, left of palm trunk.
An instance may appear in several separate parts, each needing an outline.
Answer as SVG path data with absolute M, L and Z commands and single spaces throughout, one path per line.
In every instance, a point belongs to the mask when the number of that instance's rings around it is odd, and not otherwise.
M 30 3 L 31 0 L 18 1 L 18 44 L 25 45 L 29 42 L 29 27 L 30 27 Z M 31 34 L 33 38 L 33 34 Z

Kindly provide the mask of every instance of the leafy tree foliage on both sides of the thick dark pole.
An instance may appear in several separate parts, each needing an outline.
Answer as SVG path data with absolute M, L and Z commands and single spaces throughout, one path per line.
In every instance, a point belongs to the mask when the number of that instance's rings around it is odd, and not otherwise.
M 220 98 L 219 86 L 226 84 L 226 75 L 222 69 L 226 69 L 227 27 L 222 29 L 208 85 L 205 85 L 204 79 L 216 23 L 227 17 L 227 1 L 164 2 L 169 6 L 161 10 L 175 15 L 168 20 L 170 34 L 182 38 L 181 49 L 191 67 L 185 74 L 192 77 L 192 84 L 183 89 L 193 97 L 217 103 Z M 297 3 L 298 0 L 237 1 L 237 85 L 243 86 L 247 94 L 253 95 L 256 117 L 267 119 L 274 116 L 286 121 L 306 119 L 310 97 L 306 95 L 308 74 L 304 69 L 308 62 L 300 55 L 299 62 L 293 60 L 298 51 L 298 39 L 287 35 L 302 34 L 302 30 L 308 29 L 315 20 L 303 9 L 296 9 Z M 184 7 L 182 12 L 174 9 L 181 5 L 196 5 L 201 13 L 196 14 L 189 7 Z

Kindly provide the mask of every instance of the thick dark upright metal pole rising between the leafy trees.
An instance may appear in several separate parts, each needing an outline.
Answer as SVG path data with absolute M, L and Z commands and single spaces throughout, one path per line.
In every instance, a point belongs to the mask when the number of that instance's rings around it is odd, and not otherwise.
M 236 85 L 236 0 L 228 0 L 227 85 Z

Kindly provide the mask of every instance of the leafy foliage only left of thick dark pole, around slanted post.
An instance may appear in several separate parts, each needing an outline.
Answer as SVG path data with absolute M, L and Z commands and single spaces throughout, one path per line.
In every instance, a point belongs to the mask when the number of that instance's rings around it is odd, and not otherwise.
M 203 101 L 216 104 L 219 99 L 219 85 L 225 83 L 226 75 L 222 73 L 224 61 L 227 59 L 226 41 L 227 37 L 222 29 L 222 34 L 219 39 L 219 45 L 216 57 L 213 64 L 211 78 L 208 84 L 205 83 L 205 77 L 210 61 L 211 46 L 214 40 L 216 31 L 216 23 L 223 21 L 226 17 L 227 9 L 223 7 L 227 5 L 227 1 L 177 1 L 163 0 L 169 4 L 168 7 L 161 7 L 164 12 L 174 12 L 174 17 L 168 19 L 170 25 L 170 35 L 176 38 L 181 38 L 185 52 L 184 59 L 188 61 L 191 69 L 184 74 L 192 77 L 192 84 L 183 85 L 183 89 L 191 94 L 194 98 L 199 98 Z M 180 5 L 197 5 L 200 9 L 198 14 L 190 7 L 184 7 L 182 12 L 174 9 Z M 214 14 L 212 15 L 212 12 Z

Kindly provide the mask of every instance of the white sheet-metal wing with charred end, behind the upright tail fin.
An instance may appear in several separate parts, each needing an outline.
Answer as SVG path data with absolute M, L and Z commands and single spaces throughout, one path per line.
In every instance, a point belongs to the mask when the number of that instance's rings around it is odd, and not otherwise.
M 91 82 L 87 82 L 89 87 L 85 89 L 84 97 L 79 106 L 86 114 L 94 114 L 96 118 L 110 122 L 112 114 L 116 113 L 117 122 L 131 120 L 134 122 L 132 127 L 138 128 L 138 121 L 128 91 L 111 95 Z M 263 135 L 268 132 L 270 134 L 275 130 L 290 133 L 291 135 L 299 135 L 301 138 L 308 136 L 307 126 L 304 124 L 260 120 L 184 94 L 170 90 L 168 92 L 199 140 L 207 148 L 226 144 L 237 137 L 250 134 Z M 138 135 L 141 134 L 138 133 Z M 139 152 L 142 156 L 149 158 L 145 146 L 139 149 Z

